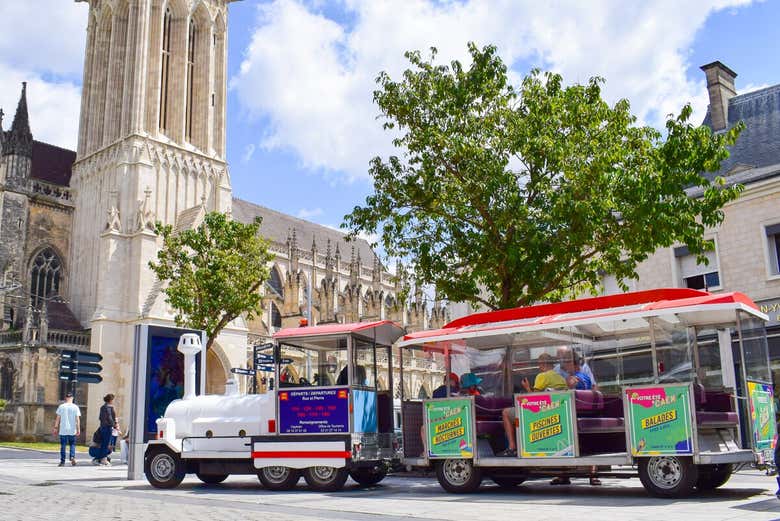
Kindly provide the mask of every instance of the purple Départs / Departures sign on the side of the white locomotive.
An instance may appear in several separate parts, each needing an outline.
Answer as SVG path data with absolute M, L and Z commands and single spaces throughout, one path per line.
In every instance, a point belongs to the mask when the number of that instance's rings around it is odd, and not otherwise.
M 280 434 L 349 432 L 349 388 L 279 390 Z

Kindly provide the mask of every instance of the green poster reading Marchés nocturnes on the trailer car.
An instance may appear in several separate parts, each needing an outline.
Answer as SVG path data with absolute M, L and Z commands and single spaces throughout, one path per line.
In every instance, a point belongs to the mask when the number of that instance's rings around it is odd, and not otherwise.
M 425 402 L 429 458 L 473 458 L 471 400 L 442 399 Z

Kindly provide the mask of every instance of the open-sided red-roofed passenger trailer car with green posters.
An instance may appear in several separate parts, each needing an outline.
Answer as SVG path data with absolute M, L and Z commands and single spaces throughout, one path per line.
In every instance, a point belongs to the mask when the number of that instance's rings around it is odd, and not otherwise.
M 411 333 L 398 343 L 402 382 L 420 356 L 452 376 L 442 398 L 402 396 L 404 463 L 434 466 L 449 492 L 483 477 L 513 487 L 638 475 L 662 497 L 715 489 L 741 466 L 771 469 L 766 319 L 740 293 L 659 289 Z

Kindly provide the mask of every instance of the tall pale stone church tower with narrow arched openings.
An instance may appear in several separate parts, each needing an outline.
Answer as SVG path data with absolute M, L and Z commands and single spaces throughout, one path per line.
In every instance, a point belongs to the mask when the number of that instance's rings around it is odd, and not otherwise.
M 81 0 L 89 4 L 70 302 L 104 382 L 130 410 L 135 326 L 173 325 L 148 268 L 154 223 L 179 229 L 230 211 L 225 162 L 227 4 L 232 0 Z M 245 356 L 246 335 L 234 331 Z M 226 332 L 230 337 L 230 331 Z M 222 338 L 222 337 L 220 337 Z M 223 358 L 230 351 L 222 343 Z M 238 365 L 238 364 L 236 364 Z

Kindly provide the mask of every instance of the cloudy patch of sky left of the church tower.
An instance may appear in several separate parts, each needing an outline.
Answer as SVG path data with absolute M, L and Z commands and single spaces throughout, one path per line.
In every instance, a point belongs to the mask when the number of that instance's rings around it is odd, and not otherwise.
M 87 12 L 86 4 L 62 0 L 0 3 L 0 106 L 6 128 L 26 81 L 33 137 L 76 147 Z

